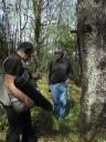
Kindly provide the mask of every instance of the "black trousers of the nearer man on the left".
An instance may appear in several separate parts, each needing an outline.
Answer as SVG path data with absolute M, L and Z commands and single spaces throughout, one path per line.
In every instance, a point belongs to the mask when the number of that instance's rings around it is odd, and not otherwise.
M 31 124 L 31 113 L 26 110 L 17 113 L 12 106 L 4 106 L 9 121 L 9 129 L 7 132 L 7 142 L 20 142 L 22 134 L 22 142 L 36 142 L 36 136 Z

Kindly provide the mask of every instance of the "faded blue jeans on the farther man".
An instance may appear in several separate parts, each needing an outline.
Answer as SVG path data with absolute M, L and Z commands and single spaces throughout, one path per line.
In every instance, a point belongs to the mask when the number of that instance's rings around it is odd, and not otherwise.
M 51 85 L 54 103 L 54 114 L 57 118 L 64 118 L 66 111 L 67 85 L 65 82 Z

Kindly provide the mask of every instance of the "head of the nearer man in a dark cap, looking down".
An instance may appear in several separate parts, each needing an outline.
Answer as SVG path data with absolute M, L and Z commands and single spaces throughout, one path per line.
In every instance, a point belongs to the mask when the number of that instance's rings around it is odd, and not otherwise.
M 33 50 L 33 44 L 31 42 L 21 42 L 18 47 L 18 53 L 24 60 L 29 60 Z

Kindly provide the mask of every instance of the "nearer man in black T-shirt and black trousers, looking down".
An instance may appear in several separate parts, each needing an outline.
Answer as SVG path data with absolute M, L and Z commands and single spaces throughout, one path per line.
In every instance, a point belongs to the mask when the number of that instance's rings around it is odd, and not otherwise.
M 29 71 L 25 62 L 33 52 L 33 45 L 30 42 L 22 42 L 18 47 L 17 53 L 10 54 L 3 62 L 4 85 L 8 89 L 9 101 L 3 103 L 9 121 L 9 130 L 7 133 L 7 142 L 19 142 L 22 134 L 22 142 L 36 142 L 36 136 L 32 129 L 30 108 L 34 106 L 34 102 L 28 98 L 22 91 L 15 88 L 13 80 L 22 77 L 30 80 Z M 14 102 L 19 100 L 19 108 Z M 24 109 L 20 110 L 23 104 Z

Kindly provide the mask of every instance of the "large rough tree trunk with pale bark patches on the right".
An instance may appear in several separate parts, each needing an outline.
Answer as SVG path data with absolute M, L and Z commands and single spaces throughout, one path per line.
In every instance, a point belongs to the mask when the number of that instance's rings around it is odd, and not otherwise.
M 106 103 L 106 1 L 78 0 L 77 30 L 82 53 L 81 122 L 92 141 L 105 121 Z

